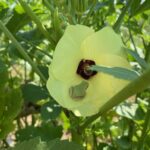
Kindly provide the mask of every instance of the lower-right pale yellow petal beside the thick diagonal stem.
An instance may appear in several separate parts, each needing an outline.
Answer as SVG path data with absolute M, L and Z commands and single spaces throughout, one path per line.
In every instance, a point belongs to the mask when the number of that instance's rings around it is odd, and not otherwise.
M 83 105 L 72 108 L 72 111 L 77 116 L 86 117 L 96 114 L 111 97 L 117 94 L 129 82 L 101 73 L 91 83 L 95 85 L 93 89 L 90 89 L 93 96 L 89 97 L 88 101 Z

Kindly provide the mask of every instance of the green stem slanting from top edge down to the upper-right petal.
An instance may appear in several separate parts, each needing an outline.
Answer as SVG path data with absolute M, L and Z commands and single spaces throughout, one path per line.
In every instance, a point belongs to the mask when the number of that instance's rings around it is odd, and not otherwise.
M 133 1 L 134 0 L 128 0 L 127 5 L 123 8 L 122 13 L 120 14 L 120 16 L 118 17 L 116 23 L 114 24 L 113 28 L 116 32 L 119 32 L 119 29 L 120 29 L 120 26 L 123 22 L 124 16 L 126 15 L 126 12 L 128 11 L 128 9 L 131 6 Z

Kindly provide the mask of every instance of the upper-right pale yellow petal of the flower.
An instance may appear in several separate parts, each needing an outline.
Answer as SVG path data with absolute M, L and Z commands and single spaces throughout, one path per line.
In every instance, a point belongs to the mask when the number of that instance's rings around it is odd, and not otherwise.
M 123 47 L 121 37 L 111 27 L 105 27 L 87 37 L 82 43 L 81 49 L 91 57 L 103 53 L 125 57 Z

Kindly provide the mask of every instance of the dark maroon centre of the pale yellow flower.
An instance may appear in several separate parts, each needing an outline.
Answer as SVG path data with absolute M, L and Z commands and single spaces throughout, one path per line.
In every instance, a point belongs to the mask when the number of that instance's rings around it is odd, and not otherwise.
M 92 65 L 95 65 L 95 62 L 93 60 L 82 59 L 79 62 L 76 73 L 82 78 L 88 80 L 97 73 L 96 71 L 92 71 L 89 69 L 89 67 Z

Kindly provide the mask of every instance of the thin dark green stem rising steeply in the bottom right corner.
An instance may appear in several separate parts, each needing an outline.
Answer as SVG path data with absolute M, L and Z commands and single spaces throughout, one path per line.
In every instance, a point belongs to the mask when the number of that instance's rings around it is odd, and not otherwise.
M 142 150 L 143 149 L 144 141 L 145 141 L 145 138 L 147 136 L 148 129 L 149 129 L 149 124 L 150 124 L 150 103 L 149 103 L 148 110 L 147 110 L 147 113 L 146 113 L 146 116 L 145 116 L 142 135 L 139 139 L 137 150 Z

